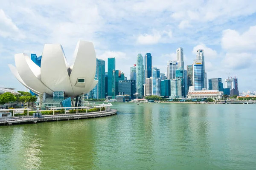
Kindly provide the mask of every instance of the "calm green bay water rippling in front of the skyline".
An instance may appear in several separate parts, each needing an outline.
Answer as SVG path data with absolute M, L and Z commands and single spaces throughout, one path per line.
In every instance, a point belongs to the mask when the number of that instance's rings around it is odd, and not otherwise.
M 0 170 L 255 170 L 256 105 L 113 103 L 115 116 L 0 127 Z

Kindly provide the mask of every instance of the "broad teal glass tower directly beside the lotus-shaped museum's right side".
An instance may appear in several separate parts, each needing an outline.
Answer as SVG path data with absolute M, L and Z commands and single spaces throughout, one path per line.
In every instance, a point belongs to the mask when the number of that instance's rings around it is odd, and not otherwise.
M 96 74 L 98 78 L 97 85 L 93 88 L 93 99 L 105 98 L 105 61 L 103 59 L 96 59 Z

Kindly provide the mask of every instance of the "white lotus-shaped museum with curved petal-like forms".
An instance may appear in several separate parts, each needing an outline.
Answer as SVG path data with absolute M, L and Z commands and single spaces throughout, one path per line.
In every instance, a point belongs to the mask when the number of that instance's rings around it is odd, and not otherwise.
M 62 46 L 45 44 L 41 67 L 27 54 L 15 54 L 15 66 L 9 65 L 12 74 L 35 94 L 64 91 L 65 96 L 79 96 L 90 92 L 97 84 L 96 54 L 92 42 L 79 41 L 73 54 L 75 61 L 68 65 Z

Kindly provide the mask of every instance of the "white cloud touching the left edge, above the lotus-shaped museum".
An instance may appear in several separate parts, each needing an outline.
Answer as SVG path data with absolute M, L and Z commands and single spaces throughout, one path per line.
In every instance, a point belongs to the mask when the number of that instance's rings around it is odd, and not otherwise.
M 24 38 L 24 35 L 20 34 L 19 28 L 12 22 L 3 9 L 0 9 L 0 36 L 12 39 Z

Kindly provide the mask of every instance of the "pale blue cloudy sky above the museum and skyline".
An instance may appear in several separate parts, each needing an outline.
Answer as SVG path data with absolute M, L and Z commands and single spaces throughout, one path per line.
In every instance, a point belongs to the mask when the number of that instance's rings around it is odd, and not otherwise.
M 41 56 L 44 44 L 61 44 L 67 61 L 79 40 L 93 42 L 96 57 L 116 58 L 129 78 L 137 54 L 151 53 L 166 72 L 176 49 L 190 65 L 204 49 L 207 78 L 238 78 L 239 92 L 256 90 L 255 0 L 0 0 L 0 86 L 25 91 L 12 75 L 17 53 Z

